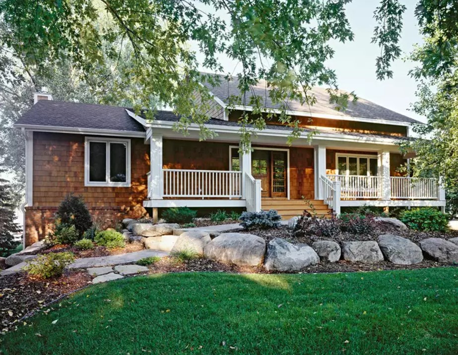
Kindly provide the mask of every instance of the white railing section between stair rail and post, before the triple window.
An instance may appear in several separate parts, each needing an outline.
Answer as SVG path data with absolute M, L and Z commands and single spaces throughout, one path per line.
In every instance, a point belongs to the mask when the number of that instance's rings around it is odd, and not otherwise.
M 382 177 L 364 175 L 327 175 L 331 181 L 339 181 L 342 199 L 380 199 Z

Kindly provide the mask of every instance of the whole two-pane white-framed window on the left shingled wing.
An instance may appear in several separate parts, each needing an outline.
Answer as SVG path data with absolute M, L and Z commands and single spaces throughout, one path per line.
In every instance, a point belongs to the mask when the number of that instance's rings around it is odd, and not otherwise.
M 84 142 L 86 186 L 131 186 L 131 140 L 86 137 Z

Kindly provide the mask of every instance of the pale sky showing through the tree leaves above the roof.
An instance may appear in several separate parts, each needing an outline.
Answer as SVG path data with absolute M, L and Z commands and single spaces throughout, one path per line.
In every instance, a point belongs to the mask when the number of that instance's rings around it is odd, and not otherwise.
M 404 12 L 404 27 L 399 43 L 403 52 L 401 58 L 405 58 L 412 51 L 414 44 L 422 42 L 414 17 L 414 5 L 417 1 L 403 2 L 407 9 Z M 376 24 L 373 12 L 378 3 L 379 0 L 353 0 L 347 4 L 347 17 L 355 38 L 353 42 L 345 44 L 333 42 L 331 45 L 335 55 L 327 64 L 335 70 L 340 89 L 354 91 L 360 98 L 424 122 L 421 116 L 409 110 L 410 104 L 415 102 L 416 83 L 408 76 L 408 71 L 414 67 L 414 63 L 397 59 L 392 66 L 392 79 L 379 81 L 376 78 L 375 61 L 380 49 L 377 45 L 371 44 L 371 38 Z M 198 55 L 199 57 L 202 56 Z M 227 57 L 220 57 L 220 60 L 225 73 L 239 72 L 240 65 L 237 65 L 237 62 Z

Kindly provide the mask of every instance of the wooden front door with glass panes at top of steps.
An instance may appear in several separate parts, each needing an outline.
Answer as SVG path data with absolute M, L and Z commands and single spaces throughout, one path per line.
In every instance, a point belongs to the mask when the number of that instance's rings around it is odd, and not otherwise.
M 286 152 L 255 148 L 251 171 L 255 179 L 261 180 L 263 198 L 286 197 Z

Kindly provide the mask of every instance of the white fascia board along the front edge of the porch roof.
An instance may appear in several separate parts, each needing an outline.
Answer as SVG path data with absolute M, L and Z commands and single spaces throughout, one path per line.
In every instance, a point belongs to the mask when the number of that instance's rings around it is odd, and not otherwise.
M 155 120 L 151 123 L 152 127 L 171 129 L 175 122 L 159 121 Z M 214 124 L 205 124 L 205 127 L 214 130 L 216 133 L 233 133 L 238 134 L 240 127 L 231 126 L 220 126 Z M 189 127 L 190 131 L 199 130 L 196 124 L 191 124 Z M 274 137 L 288 137 L 290 131 L 280 131 L 275 129 L 264 129 L 256 132 L 258 136 L 274 136 Z M 300 138 L 308 138 L 307 133 L 301 133 Z M 358 142 L 358 143 L 373 143 L 382 145 L 397 145 L 397 140 L 391 138 L 380 138 L 380 137 L 355 137 L 346 134 L 329 134 L 329 133 L 317 133 L 313 136 L 313 139 L 320 139 L 325 141 L 341 141 L 341 142 Z

